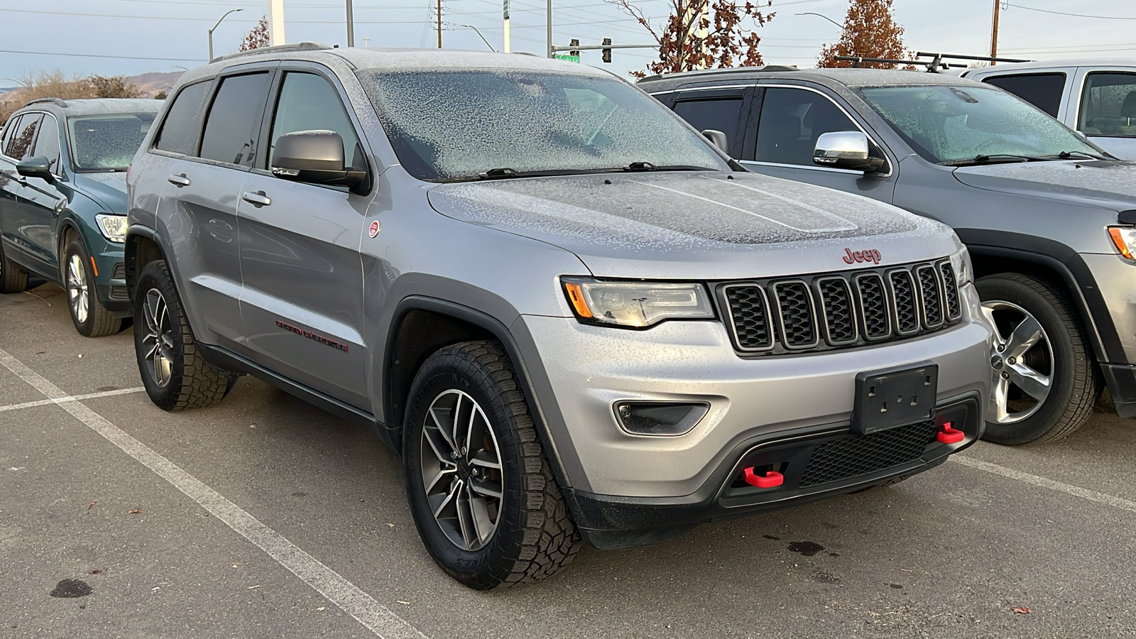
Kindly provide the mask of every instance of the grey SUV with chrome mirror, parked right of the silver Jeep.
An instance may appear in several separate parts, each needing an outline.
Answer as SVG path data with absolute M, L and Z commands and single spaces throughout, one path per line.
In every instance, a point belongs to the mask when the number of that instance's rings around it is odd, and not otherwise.
M 1067 435 L 1102 382 L 1121 416 L 1136 415 L 1136 164 L 1010 93 L 945 74 L 775 67 L 640 86 L 727 133 L 751 171 L 954 227 L 997 327 L 987 439 Z

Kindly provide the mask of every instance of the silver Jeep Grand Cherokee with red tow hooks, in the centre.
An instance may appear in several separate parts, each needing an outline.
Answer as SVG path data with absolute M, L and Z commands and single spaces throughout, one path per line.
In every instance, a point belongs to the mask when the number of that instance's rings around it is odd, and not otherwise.
M 128 188 L 154 404 L 248 373 L 373 428 L 474 588 L 983 433 L 992 330 L 950 229 L 747 173 L 598 69 L 229 56 L 183 76 Z

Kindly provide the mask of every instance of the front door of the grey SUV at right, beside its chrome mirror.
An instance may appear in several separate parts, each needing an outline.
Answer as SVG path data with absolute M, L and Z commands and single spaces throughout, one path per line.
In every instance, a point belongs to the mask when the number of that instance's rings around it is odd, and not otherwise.
M 862 171 L 830 168 L 812 163 L 817 139 L 821 133 L 864 132 L 844 108 L 820 91 L 803 86 L 767 86 L 762 93 L 760 107 L 757 108 L 753 155 L 742 161 L 746 168 L 774 177 L 892 201 L 899 167 L 891 158 L 883 175 L 864 175 Z M 868 134 L 868 139 L 871 140 L 872 136 Z M 877 149 L 877 152 L 883 152 L 878 146 Z

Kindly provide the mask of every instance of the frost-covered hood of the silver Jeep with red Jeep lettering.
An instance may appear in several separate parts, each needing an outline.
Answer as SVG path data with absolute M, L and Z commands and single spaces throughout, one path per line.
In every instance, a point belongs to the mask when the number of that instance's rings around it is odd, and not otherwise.
M 755 173 L 663 172 L 443 184 L 456 219 L 576 254 L 594 275 L 718 280 L 944 257 L 946 226 L 869 198 Z M 871 252 L 877 251 L 877 252 Z

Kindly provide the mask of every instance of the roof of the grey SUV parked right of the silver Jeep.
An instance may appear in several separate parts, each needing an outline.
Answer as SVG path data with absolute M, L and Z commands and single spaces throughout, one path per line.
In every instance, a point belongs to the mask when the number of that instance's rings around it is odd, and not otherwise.
M 792 67 L 790 67 L 792 68 Z M 729 69 L 733 73 L 708 74 L 676 73 L 671 75 L 649 77 L 640 81 L 646 91 L 673 91 L 692 86 L 713 86 L 733 84 L 738 81 L 758 80 L 804 80 L 822 84 L 843 84 L 845 86 L 885 86 L 908 84 L 977 84 L 955 75 L 927 73 L 925 70 L 904 69 L 869 69 L 869 68 L 815 68 L 787 70 L 785 67 L 767 69 L 765 67 L 742 67 Z M 649 85 L 649 86 L 648 86 Z

